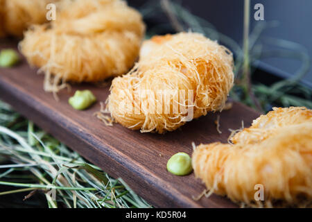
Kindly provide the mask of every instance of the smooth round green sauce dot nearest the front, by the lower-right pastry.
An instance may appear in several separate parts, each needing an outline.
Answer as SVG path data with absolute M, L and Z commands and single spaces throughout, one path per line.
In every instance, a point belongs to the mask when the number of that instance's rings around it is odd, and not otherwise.
M 191 157 L 187 153 L 175 153 L 167 162 L 167 170 L 177 176 L 185 176 L 193 171 Z

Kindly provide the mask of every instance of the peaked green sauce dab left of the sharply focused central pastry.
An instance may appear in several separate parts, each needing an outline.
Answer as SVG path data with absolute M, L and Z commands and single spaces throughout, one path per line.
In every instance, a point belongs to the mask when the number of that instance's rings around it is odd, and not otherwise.
M 96 97 L 90 90 L 77 90 L 75 94 L 69 98 L 69 104 L 76 110 L 85 110 L 92 103 L 96 102 Z

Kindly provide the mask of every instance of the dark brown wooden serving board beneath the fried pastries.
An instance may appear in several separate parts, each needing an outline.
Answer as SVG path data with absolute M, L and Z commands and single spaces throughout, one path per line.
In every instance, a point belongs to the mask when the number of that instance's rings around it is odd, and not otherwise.
M 16 41 L 1 40 L 0 49 L 16 49 Z M 74 52 L 73 52 L 74 53 Z M 204 189 L 200 180 L 189 176 L 174 176 L 166 171 L 166 162 L 177 152 L 191 155 L 191 143 L 227 142 L 229 128 L 250 125 L 259 116 L 254 110 L 234 103 L 231 110 L 220 114 L 218 134 L 214 121 L 217 114 L 207 114 L 182 128 L 164 135 L 140 133 L 119 124 L 105 126 L 93 116 L 100 110 L 96 103 L 85 111 L 71 108 L 68 99 L 76 89 L 90 89 L 98 101 L 105 101 L 110 85 L 73 85 L 71 92 L 62 90 L 55 101 L 43 90 L 43 75 L 37 75 L 23 60 L 17 67 L 0 68 L 0 98 L 46 132 L 51 133 L 74 151 L 115 178 L 120 177 L 148 203 L 156 207 L 237 207 L 224 197 L 212 195 L 196 201 Z

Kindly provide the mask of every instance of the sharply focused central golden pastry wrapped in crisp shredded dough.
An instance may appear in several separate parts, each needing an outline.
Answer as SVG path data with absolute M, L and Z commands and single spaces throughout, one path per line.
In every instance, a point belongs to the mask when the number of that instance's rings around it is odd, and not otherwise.
M 152 37 L 134 69 L 112 81 L 107 108 L 114 121 L 132 130 L 175 130 L 190 121 L 189 108 L 191 119 L 223 109 L 233 86 L 233 63 L 228 49 L 198 33 Z

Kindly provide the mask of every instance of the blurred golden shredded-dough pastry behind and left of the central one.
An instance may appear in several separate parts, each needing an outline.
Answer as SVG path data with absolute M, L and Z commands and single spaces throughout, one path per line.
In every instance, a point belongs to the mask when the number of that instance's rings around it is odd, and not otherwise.
M 33 26 L 20 48 L 31 65 L 44 71 L 46 83 L 94 83 L 134 65 L 144 32 L 141 15 L 124 1 L 62 0 L 56 20 Z M 54 91 L 49 85 L 45 89 Z

